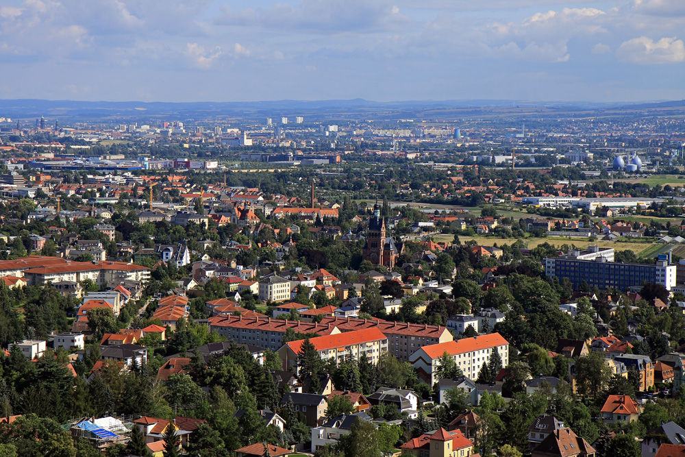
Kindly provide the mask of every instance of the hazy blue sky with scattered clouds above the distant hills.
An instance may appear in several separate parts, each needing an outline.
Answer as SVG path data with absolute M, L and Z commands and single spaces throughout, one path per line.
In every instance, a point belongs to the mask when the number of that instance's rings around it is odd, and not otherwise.
M 685 98 L 685 0 L 2 0 L 0 99 Z

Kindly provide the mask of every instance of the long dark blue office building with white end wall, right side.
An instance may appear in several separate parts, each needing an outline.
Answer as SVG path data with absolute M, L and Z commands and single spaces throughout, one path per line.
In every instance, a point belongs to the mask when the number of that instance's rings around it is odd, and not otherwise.
M 560 281 L 566 278 L 574 289 L 583 283 L 602 291 L 627 291 L 646 282 L 662 284 L 668 291 L 675 287 L 676 266 L 667 260 L 658 260 L 654 265 L 613 260 L 613 249 L 591 247 L 590 251 L 571 251 L 566 256 L 545 258 L 545 275 Z

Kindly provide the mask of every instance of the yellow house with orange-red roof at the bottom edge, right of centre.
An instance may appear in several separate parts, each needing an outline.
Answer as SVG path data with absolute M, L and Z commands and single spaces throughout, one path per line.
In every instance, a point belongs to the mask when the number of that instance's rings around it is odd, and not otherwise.
M 467 457 L 473 454 L 473 441 L 459 430 L 444 428 L 433 434 L 423 434 L 400 446 L 404 457 Z

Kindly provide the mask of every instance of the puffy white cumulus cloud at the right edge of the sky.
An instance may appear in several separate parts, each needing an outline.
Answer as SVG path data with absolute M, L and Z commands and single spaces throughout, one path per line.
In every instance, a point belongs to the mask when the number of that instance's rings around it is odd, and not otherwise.
M 621 62 L 632 64 L 674 64 L 685 61 L 685 45 L 682 40 L 675 38 L 654 41 L 640 36 L 621 43 L 616 50 L 616 57 Z

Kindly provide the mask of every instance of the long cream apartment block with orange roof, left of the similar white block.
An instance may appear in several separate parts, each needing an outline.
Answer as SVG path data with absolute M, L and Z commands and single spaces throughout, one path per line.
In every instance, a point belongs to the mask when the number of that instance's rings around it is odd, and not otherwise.
M 362 356 L 376 364 L 381 354 L 388 351 L 388 338 L 377 328 L 317 336 L 311 338 L 310 343 L 324 362 L 333 360 L 336 366 L 348 358 L 358 360 Z M 284 370 L 297 368 L 297 356 L 301 353 L 303 344 L 304 340 L 289 341 L 278 349 L 277 354 L 283 362 Z

